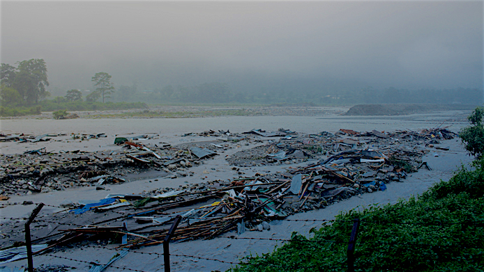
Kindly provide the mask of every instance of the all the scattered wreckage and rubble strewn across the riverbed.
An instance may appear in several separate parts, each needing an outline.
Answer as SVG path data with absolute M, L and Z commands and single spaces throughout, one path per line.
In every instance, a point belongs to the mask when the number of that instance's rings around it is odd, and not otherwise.
M 66 211 L 34 221 L 32 232 L 36 237 L 45 237 L 36 242 L 51 246 L 96 237 L 119 243 L 119 248 L 139 248 L 162 243 L 176 216 L 181 216 L 182 223 L 172 241 L 209 239 L 229 231 L 240 234 L 269 230 L 271 221 L 322 209 L 353 195 L 384 191 L 388 182 L 401 182 L 418 168 L 426 166 L 430 170 L 422 157 L 430 145 L 456 136 L 447 128 L 391 133 L 341 129 L 335 134 L 252 130 L 245 139 L 267 144 L 227 157 L 233 169 L 311 161 L 306 166 L 288 166 L 285 172 L 257 173 L 139 194 L 107 195 L 95 203 L 66 201 L 61 204 Z M 209 131 L 203 136 L 240 134 Z M 217 139 L 216 143 L 148 146 L 132 138 L 120 142 L 120 150 L 2 155 L 0 195 L 8 198 L 8 194 L 19 191 L 63 190 L 68 186 L 102 188 L 107 182 L 126 182 L 120 177 L 127 175 L 123 171 L 148 168 L 172 173 L 184 169 L 190 175 L 186 169 L 218 156 L 220 150 L 239 145 L 239 141 L 227 138 Z M 3 234 L 1 246 L 23 240 L 22 233 L 15 231 L 22 229 L 22 222 L 3 225 L 12 231 Z M 119 239 L 120 234 L 124 238 Z

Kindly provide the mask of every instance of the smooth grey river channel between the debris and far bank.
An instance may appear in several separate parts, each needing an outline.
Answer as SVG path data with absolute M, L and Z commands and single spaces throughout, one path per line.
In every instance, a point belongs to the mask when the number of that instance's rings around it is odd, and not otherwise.
M 317 133 L 353 129 L 356 131 L 418 130 L 451 126 L 457 132 L 468 125 L 469 111 L 446 111 L 404 116 L 227 116 L 213 118 L 146 118 L 146 119 L 72 119 L 72 120 L 1 120 L 3 134 L 146 134 L 165 136 L 202 132 L 209 129 L 244 132 L 250 129 L 275 131 L 280 128 Z

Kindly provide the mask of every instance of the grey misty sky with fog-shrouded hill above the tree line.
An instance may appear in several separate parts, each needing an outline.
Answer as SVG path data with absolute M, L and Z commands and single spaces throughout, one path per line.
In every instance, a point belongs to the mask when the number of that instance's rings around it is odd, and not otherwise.
M 483 1 L 1 1 L 1 62 L 51 87 L 335 79 L 482 88 Z

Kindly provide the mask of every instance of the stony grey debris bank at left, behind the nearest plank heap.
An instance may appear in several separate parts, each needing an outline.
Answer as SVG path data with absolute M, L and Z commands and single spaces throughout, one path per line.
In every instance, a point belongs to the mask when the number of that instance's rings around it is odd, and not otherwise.
M 193 175 L 188 168 L 213 157 L 218 147 L 148 146 L 133 141 L 120 143 L 119 150 L 84 152 L 46 152 L 30 150 L 24 154 L 0 155 L 0 194 L 29 194 L 64 190 L 71 186 L 94 186 L 96 176 L 110 175 L 116 180 L 137 179 L 142 172 L 156 170 L 158 177 L 174 173 Z M 89 174 L 87 174 L 89 173 Z M 91 178 L 91 179 L 88 179 Z

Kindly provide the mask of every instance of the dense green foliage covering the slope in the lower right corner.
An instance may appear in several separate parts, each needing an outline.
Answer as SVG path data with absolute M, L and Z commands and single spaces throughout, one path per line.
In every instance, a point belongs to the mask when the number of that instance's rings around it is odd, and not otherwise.
M 273 253 L 247 257 L 230 271 L 346 271 L 354 218 L 361 219 L 356 271 L 483 271 L 484 161 L 474 167 L 421 197 L 339 214 L 312 238 L 293 234 Z

